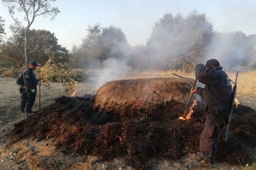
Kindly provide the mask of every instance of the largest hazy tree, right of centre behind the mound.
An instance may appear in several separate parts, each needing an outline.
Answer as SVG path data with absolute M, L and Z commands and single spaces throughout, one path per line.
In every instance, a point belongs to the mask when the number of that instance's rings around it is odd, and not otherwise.
M 146 44 L 150 68 L 191 71 L 203 58 L 213 36 L 213 25 L 204 13 L 192 11 L 186 17 L 166 13 L 160 18 Z

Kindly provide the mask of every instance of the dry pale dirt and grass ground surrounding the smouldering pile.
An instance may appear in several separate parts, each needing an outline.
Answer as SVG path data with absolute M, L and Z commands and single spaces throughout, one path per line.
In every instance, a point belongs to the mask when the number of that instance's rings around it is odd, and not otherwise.
M 177 73 L 177 72 L 175 72 Z M 194 78 L 193 74 L 184 74 L 178 72 L 177 74 L 186 78 Z M 229 78 L 235 79 L 235 73 L 228 73 Z M 123 79 L 131 78 L 154 78 L 154 77 L 175 77 L 171 75 L 171 72 L 152 72 L 141 74 L 130 74 Z M 242 105 L 248 105 L 253 109 L 256 109 L 256 71 L 243 72 L 238 77 L 238 89 L 237 98 Z M 119 79 L 119 78 L 116 78 Z M 0 170 L 54 170 L 57 164 L 63 162 L 73 163 L 73 170 L 131 170 L 123 162 L 122 158 L 115 158 L 109 162 L 96 162 L 97 158 L 91 156 L 80 156 L 73 154 L 66 157 L 62 152 L 56 152 L 55 147 L 50 146 L 54 141 L 37 142 L 32 140 L 23 140 L 20 143 L 15 144 L 12 148 L 6 145 L 8 136 L 6 134 L 14 128 L 14 124 L 21 121 L 25 117 L 20 113 L 20 94 L 17 90 L 18 86 L 15 84 L 15 78 L 0 78 Z M 97 78 L 91 78 L 88 82 L 78 83 L 75 96 L 84 96 L 85 94 L 92 94 L 94 92 L 95 82 Z M 63 95 L 63 87 L 59 83 L 51 83 L 51 89 L 45 90 L 41 88 L 41 107 L 49 105 L 54 102 L 56 97 Z M 35 105 L 33 110 L 37 110 L 39 107 L 39 97 L 37 94 Z M 24 153 L 20 155 L 17 151 Z M 37 157 L 47 157 L 45 159 L 48 167 L 37 167 L 33 163 L 33 159 Z M 28 158 L 29 157 L 29 158 Z M 56 158 L 57 159 L 54 159 Z M 186 162 L 195 159 L 196 155 L 187 155 L 181 160 L 170 161 L 163 159 L 162 161 L 156 161 L 154 164 L 155 170 L 191 170 L 193 168 L 187 166 Z M 26 160 L 27 159 L 27 160 Z M 56 161 L 58 160 L 58 161 Z M 150 160 L 155 161 L 155 160 Z M 26 162 L 26 164 L 24 164 Z M 229 166 L 228 164 L 222 164 L 217 169 L 219 170 L 233 170 L 239 169 L 238 166 Z M 65 167 L 63 167 L 65 169 Z

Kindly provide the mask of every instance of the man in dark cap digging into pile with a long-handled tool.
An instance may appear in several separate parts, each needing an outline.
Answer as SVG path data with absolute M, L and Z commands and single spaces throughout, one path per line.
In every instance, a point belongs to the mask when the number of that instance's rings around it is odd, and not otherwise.
M 200 135 L 199 166 L 211 166 L 215 164 L 217 135 L 228 121 L 232 87 L 228 75 L 222 71 L 216 59 L 208 60 L 205 66 L 197 65 L 196 78 L 205 84 L 205 87 L 191 89 L 191 93 L 196 92 L 203 98 L 206 113 L 204 128 Z

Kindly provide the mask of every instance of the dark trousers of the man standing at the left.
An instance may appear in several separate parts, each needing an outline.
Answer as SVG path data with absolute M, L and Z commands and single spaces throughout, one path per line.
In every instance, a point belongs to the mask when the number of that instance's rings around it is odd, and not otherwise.
M 36 90 L 36 89 L 35 89 Z M 25 90 L 21 92 L 21 108 L 31 110 L 36 101 L 36 92 L 27 93 Z

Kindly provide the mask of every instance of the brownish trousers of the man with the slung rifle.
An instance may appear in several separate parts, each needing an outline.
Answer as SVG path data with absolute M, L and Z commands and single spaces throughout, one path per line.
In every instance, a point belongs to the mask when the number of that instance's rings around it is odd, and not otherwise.
M 216 138 L 218 136 L 218 129 L 214 123 L 204 123 L 203 131 L 200 135 L 199 150 L 201 157 L 211 157 L 213 151 L 216 151 Z

